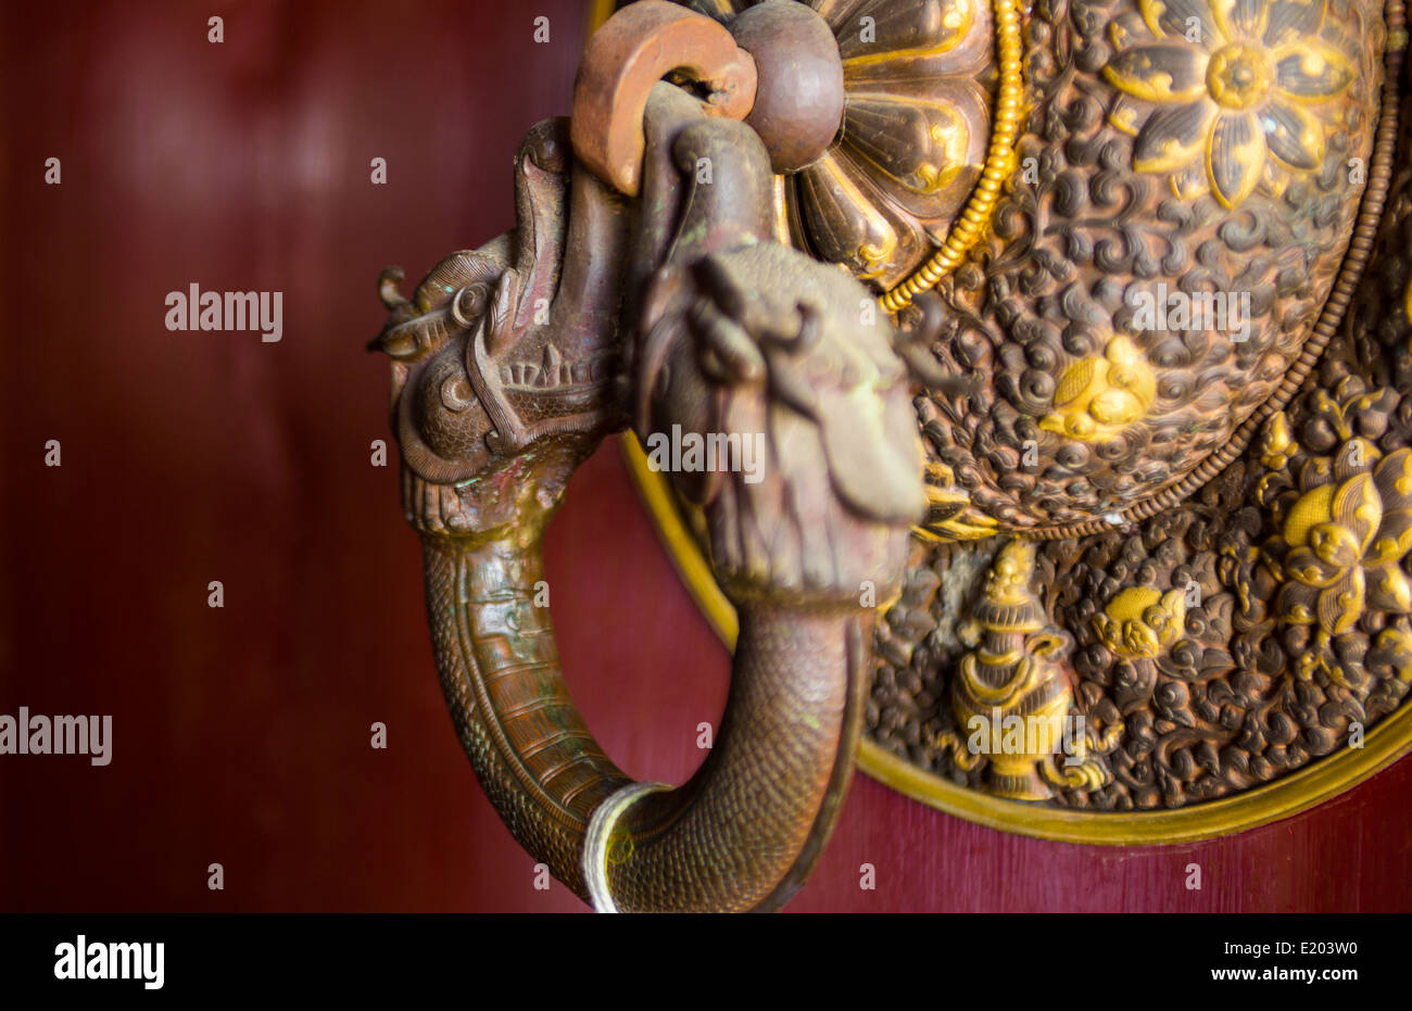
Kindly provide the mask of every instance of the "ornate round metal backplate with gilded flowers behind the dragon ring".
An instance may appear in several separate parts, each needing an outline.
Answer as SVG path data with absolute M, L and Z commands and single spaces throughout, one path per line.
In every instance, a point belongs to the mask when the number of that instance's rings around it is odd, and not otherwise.
M 915 401 L 931 508 L 878 602 L 861 768 L 1163 843 L 1406 751 L 1401 4 L 812 6 L 846 113 L 777 177 L 778 230 L 969 380 Z M 699 517 L 627 452 L 729 640 Z

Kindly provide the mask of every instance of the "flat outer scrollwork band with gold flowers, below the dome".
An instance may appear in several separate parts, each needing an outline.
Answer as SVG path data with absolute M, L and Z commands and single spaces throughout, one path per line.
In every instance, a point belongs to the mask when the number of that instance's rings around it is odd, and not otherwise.
M 1409 192 L 1404 165 L 1343 326 L 1231 466 L 1176 508 L 1038 548 L 1034 585 L 1073 635 L 1075 709 L 1099 729 L 1113 777 L 1045 803 L 1139 812 L 1234 796 L 1360 747 L 1405 705 Z M 966 655 L 947 616 L 964 613 L 991 544 L 918 544 L 878 627 L 868 707 L 878 744 L 981 792 L 994 792 L 981 770 L 938 743 L 959 730 L 945 699 Z

